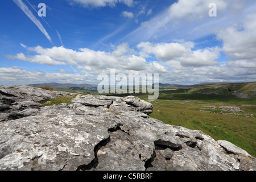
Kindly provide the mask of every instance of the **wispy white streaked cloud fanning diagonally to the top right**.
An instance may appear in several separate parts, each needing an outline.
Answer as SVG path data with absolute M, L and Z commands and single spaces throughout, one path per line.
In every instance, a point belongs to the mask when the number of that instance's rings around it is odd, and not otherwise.
M 217 17 L 209 17 L 208 6 L 212 2 L 216 2 Z M 246 14 L 255 12 L 255 6 L 254 0 L 179 0 L 169 9 L 142 22 L 137 29 L 123 36 L 120 42 L 153 42 L 155 35 L 162 42 L 203 39 L 221 27 L 243 22 Z

